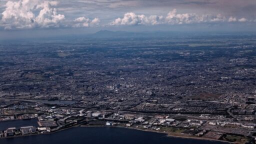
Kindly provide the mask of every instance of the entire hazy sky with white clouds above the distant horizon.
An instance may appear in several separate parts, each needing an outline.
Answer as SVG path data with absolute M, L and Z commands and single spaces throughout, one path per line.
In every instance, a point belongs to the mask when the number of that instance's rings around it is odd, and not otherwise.
M 0 37 L 256 31 L 256 0 L 0 0 Z

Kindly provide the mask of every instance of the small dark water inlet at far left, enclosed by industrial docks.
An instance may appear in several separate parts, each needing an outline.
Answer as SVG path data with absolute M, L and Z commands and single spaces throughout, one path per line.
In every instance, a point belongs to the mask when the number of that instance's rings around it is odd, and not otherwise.
M 38 127 L 37 121 L 38 121 L 37 118 L 36 119 L 26 119 L 26 120 L 0 121 L 0 130 L 5 130 L 9 127 L 16 127 L 16 128 L 20 128 L 22 126 Z

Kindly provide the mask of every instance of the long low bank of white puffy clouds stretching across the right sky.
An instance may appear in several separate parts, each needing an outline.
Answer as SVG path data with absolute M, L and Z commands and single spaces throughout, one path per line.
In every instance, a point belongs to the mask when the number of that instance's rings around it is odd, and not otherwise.
M 113 20 L 110 25 L 155 25 L 155 24 L 190 24 L 190 23 L 214 23 L 214 22 L 234 22 L 247 21 L 246 18 L 236 19 L 236 17 L 230 16 L 226 18 L 222 14 L 196 14 L 196 13 L 177 13 L 176 9 L 171 10 L 165 17 L 144 14 L 135 14 L 133 12 L 125 13 L 124 16 L 118 17 Z

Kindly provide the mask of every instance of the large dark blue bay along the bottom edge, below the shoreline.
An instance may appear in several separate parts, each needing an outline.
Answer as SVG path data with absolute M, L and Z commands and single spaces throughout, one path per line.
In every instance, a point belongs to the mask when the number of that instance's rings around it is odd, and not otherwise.
M 73 127 L 51 134 L 0 139 L 1 144 L 220 144 L 224 142 L 167 137 L 162 133 L 113 127 Z

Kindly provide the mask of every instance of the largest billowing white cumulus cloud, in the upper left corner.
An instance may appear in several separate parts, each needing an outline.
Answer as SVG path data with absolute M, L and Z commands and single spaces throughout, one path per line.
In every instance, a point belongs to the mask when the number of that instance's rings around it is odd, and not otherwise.
M 1 25 L 5 29 L 58 27 L 65 16 L 57 13 L 55 5 L 57 1 L 7 1 L 1 13 Z M 35 15 L 36 11 L 38 15 Z

